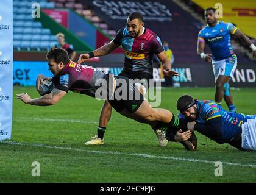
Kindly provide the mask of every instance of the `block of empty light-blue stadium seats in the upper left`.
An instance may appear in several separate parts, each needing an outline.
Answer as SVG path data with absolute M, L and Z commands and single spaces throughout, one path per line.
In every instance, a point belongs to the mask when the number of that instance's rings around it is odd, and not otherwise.
M 21 50 L 48 50 L 57 44 L 55 35 L 50 29 L 43 28 L 42 24 L 32 17 L 32 4 L 35 1 L 13 1 L 13 47 Z M 53 8 L 54 2 L 37 1 L 40 7 Z

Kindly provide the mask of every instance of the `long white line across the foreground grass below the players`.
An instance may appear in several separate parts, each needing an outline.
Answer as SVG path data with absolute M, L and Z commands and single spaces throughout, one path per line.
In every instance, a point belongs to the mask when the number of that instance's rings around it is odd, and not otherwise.
M 78 151 L 78 152 L 90 152 L 90 153 L 96 153 L 96 154 L 113 154 L 113 155 L 130 155 L 135 157 L 144 157 L 144 158 L 160 158 L 165 160 L 177 160 L 177 161 L 190 161 L 193 163 L 206 163 L 206 164 L 214 164 L 216 161 L 208 161 L 208 160 L 199 160 L 195 158 L 182 158 L 182 157 L 165 157 L 165 156 L 155 156 L 155 155 L 149 155 L 149 154 L 139 154 L 139 153 L 126 153 L 126 152 L 118 152 L 118 151 L 91 151 L 86 149 L 78 149 L 73 147 L 59 147 L 59 146 L 47 146 L 44 144 L 27 144 L 27 143 L 20 143 L 16 141 L 0 141 L 0 143 L 4 144 L 10 144 L 10 145 L 17 145 L 17 146 L 32 146 L 32 147 L 46 147 L 49 149 L 60 149 L 60 150 L 66 150 L 66 151 Z M 240 164 L 240 163 L 231 163 L 227 161 L 222 161 L 224 165 L 229 166 L 240 166 L 240 167 L 248 167 L 248 168 L 256 168 L 256 165 L 253 164 Z

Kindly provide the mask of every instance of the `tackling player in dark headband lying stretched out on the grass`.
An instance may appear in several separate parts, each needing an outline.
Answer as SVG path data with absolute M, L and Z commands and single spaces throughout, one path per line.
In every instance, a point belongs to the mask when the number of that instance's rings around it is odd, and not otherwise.
M 179 118 L 188 130 L 202 133 L 219 144 L 256 151 L 256 115 L 227 112 L 213 101 L 198 101 L 185 95 L 178 99 Z

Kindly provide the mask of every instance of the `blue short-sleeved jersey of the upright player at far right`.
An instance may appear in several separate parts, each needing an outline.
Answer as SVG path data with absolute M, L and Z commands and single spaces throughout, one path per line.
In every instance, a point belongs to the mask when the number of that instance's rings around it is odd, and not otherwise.
M 205 41 L 210 47 L 213 60 L 223 60 L 234 55 L 231 37 L 235 34 L 237 28 L 232 23 L 225 23 L 223 21 L 217 22 L 214 27 L 207 24 L 199 31 L 198 41 Z

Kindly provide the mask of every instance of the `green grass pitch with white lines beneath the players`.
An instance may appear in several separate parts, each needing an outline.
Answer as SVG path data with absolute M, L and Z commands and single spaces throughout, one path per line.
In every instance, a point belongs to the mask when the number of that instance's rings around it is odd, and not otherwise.
M 213 99 L 214 88 L 165 88 L 160 107 L 177 114 L 182 94 Z M 0 182 L 256 182 L 256 153 L 238 151 L 196 133 L 198 150 L 180 143 L 158 146 L 151 127 L 114 110 L 102 146 L 84 146 L 96 133 L 102 101 L 69 92 L 58 104 L 35 107 L 15 94 L 38 97 L 34 87 L 14 87 L 12 140 L 0 143 Z M 238 112 L 256 115 L 255 88 L 233 90 Z M 226 105 L 223 105 L 227 108 Z M 32 162 L 40 163 L 33 177 Z M 215 161 L 223 176 L 215 176 Z

